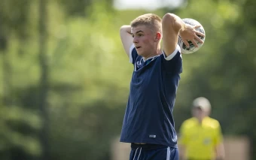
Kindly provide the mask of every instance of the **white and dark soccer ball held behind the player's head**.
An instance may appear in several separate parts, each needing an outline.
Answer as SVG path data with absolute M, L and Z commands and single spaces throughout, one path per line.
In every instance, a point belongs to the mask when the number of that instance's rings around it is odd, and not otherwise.
M 203 33 L 204 35 L 206 35 L 205 30 L 203 29 L 203 26 L 197 22 L 197 20 L 191 19 L 191 18 L 184 18 L 182 19 L 184 21 L 184 23 L 189 24 L 191 26 L 197 26 L 200 25 L 199 28 L 197 28 L 196 30 Z M 201 38 L 201 40 L 205 41 L 206 37 L 202 37 L 202 36 L 198 36 Z M 200 49 L 200 47 L 203 46 L 203 44 L 197 42 L 198 47 L 195 47 L 194 44 L 191 41 L 187 41 L 189 44 L 189 47 L 187 47 L 184 42 L 182 41 L 181 37 L 178 36 L 178 45 L 179 47 L 181 47 L 181 53 L 185 53 L 185 54 L 190 54 L 190 53 L 194 53 L 197 50 Z

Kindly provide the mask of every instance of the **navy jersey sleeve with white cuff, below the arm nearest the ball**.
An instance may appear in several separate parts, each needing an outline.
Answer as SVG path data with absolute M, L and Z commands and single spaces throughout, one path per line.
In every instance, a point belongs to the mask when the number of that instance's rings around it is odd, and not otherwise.
M 175 51 L 169 56 L 166 56 L 166 53 L 163 52 L 163 63 L 166 71 L 169 73 L 181 74 L 182 73 L 182 57 L 181 57 L 181 48 L 176 46 Z

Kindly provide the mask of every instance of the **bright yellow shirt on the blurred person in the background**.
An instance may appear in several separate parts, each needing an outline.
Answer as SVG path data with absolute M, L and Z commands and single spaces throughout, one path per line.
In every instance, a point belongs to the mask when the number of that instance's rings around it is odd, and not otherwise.
M 187 158 L 215 158 L 215 146 L 222 142 L 221 126 L 216 119 L 206 117 L 202 124 L 196 118 L 185 120 L 178 143 L 185 146 Z

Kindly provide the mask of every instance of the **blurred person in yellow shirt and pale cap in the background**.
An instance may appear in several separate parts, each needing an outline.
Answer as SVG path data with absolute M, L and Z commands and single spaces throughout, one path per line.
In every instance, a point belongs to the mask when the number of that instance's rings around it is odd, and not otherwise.
M 208 99 L 196 98 L 192 104 L 193 117 L 181 124 L 178 149 L 181 160 L 224 160 L 221 125 L 209 117 Z

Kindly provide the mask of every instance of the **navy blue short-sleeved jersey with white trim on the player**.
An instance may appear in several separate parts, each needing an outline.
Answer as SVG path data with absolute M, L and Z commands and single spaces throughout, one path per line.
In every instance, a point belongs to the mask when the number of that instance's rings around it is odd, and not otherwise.
M 134 71 L 121 131 L 121 142 L 177 147 L 172 110 L 182 71 L 180 48 L 145 61 L 133 47 Z

